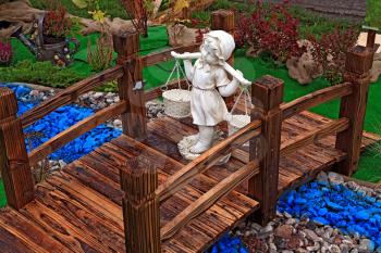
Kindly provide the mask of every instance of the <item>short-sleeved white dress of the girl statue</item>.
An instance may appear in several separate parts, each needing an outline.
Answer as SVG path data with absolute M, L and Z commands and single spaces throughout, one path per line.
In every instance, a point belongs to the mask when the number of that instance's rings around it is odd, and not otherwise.
M 225 119 L 226 104 L 218 87 L 230 84 L 228 74 L 220 65 L 209 66 L 197 60 L 192 78 L 190 110 L 193 123 L 199 126 L 216 126 Z

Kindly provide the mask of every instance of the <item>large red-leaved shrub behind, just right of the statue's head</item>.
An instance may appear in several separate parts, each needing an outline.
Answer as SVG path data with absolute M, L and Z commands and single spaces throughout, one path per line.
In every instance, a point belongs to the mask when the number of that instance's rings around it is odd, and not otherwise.
M 257 2 L 250 15 L 237 18 L 235 39 L 238 46 L 248 43 L 283 63 L 292 56 L 300 56 L 306 50 L 297 43 L 300 39 L 298 27 L 298 20 L 285 3 L 267 7 Z

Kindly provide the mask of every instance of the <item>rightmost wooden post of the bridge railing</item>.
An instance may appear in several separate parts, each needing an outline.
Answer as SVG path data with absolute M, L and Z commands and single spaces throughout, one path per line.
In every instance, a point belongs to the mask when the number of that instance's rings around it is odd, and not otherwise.
M 369 71 L 372 67 L 373 55 L 373 49 L 360 46 L 356 46 L 346 54 L 345 80 L 353 84 L 353 92 L 342 98 L 340 117 L 349 119 L 349 128 L 340 132 L 336 138 L 336 149 L 347 154 L 347 159 L 336 165 L 336 170 L 346 176 L 351 176 L 356 170 L 360 156 L 370 85 Z

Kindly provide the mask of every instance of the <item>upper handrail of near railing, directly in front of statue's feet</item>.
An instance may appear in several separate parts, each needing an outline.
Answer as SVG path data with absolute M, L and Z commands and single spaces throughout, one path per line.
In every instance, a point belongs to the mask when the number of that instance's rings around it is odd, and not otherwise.
M 241 146 L 249 139 L 259 136 L 260 126 L 260 121 L 249 123 L 246 127 L 239 129 L 234 135 L 228 137 L 225 140 L 216 144 L 208 151 L 204 152 L 200 156 L 185 165 L 182 169 L 177 170 L 157 189 L 156 194 L 158 195 L 159 201 L 165 201 L 186 184 L 188 184 L 195 176 L 216 165 L 221 156 L 226 155 L 226 153 L 234 149 L 234 146 Z

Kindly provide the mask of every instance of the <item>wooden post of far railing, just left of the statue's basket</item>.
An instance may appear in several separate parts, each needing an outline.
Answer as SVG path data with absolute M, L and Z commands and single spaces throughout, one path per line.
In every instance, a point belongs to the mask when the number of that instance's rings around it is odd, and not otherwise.
M 138 55 L 139 34 L 131 33 L 113 36 L 116 63 L 124 66 L 124 74 L 118 80 L 119 96 L 126 101 L 126 112 L 122 114 L 123 134 L 132 138 L 145 139 L 147 132 L 146 105 L 143 87 L 143 63 Z

